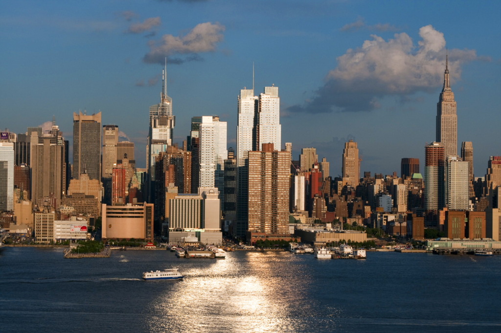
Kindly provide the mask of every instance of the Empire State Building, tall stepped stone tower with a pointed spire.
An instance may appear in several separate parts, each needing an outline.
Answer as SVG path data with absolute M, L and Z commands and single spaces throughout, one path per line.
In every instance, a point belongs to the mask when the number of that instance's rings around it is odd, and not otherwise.
M 457 114 L 454 93 L 450 89 L 448 57 L 445 60 L 443 88 L 437 103 L 436 141 L 444 146 L 444 157 L 457 155 Z

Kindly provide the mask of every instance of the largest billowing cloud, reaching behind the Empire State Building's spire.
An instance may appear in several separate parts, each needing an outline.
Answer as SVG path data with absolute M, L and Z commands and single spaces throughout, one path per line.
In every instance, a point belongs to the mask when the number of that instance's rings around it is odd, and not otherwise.
M 421 40 L 414 45 L 406 33 L 385 41 L 371 35 L 362 47 L 349 49 L 337 58 L 326 83 L 296 112 L 368 111 L 378 108 L 384 96 L 402 96 L 432 91 L 443 82 L 445 39 L 432 26 L 419 30 Z M 452 49 L 449 54 L 451 82 L 460 79 L 461 66 L 478 57 L 474 50 Z

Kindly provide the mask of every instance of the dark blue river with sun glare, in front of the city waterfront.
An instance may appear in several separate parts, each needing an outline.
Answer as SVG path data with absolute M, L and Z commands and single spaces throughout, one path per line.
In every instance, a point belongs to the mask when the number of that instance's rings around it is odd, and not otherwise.
M 178 267 L 182 281 L 143 281 Z M 0 252 L 0 332 L 501 331 L 501 256 L 368 252 L 366 260 L 289 252 L 178 259 L 62 248 Z

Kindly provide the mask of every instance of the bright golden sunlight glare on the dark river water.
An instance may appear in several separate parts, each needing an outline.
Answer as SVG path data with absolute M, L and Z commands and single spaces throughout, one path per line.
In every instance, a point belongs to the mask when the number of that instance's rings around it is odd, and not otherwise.
M 289 274 L 284 283 L 274 266 L 289 260 L 284 254 L 248 252 L 236 261 L 230 253 L 202 269 L 183 271 L 185 279 L 151 304 L 157 315 L 148 320 L 150 331 L 293 331 L 291 307 L 301 303 L 301 292 L 291 286 L 304 284 L 307 274 Z

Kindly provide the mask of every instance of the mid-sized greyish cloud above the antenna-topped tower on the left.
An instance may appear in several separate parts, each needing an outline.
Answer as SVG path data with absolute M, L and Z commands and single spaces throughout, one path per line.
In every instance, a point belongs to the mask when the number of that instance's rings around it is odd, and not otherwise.
M 185 36 L 164 35 L 160 41 L 149 43 L 150 52 L 144 56 L 147 63 L 164 62 L 165 57 L 185 55 L 185 58 L 171 59 L 171 63 L 200 60 L 199 53 L 214 52 L 223 40 L 225 27 L 219 23 L 200 23 Z

